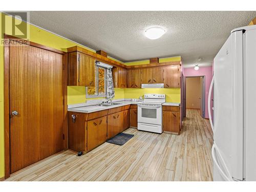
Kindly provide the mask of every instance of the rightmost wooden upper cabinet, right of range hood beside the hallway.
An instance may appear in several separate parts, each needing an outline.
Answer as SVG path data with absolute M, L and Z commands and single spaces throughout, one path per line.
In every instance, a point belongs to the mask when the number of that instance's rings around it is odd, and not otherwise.
M 164 88 L 180 88 L 180 66 L 164 67 Z

